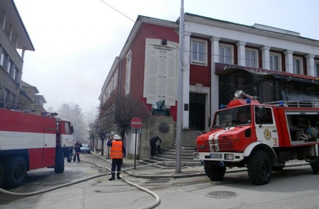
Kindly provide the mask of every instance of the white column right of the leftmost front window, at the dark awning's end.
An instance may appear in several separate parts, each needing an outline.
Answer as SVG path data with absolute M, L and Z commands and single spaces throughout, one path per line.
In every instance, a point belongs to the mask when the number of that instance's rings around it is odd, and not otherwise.
M 211 66 L 210 66 L 210 112 L 218 110 L 218 75 L 215 74 L 215 63 L 219 62 L 219 37 L 211 37 Z

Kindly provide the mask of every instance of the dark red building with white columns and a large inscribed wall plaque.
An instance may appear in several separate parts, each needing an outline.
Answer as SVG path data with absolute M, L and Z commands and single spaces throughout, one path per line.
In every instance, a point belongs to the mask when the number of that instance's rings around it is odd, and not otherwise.
M 176 121 L 179 19 L 139 16 L 101 90 L 148 107 L 165 100 Z M 237 90 L 260 102 L 319 99 L 319 41 L 298 32 L 184 14 L 182 127 L 208 130 L 207 117 Z

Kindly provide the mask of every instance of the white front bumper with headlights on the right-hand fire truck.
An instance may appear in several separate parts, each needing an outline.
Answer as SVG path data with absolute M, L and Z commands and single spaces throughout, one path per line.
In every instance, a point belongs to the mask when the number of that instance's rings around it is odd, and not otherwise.
M 242 161 L 244 159 L 244 153 L 194 152 L 193 158 L 194 158 L 194 160 L 239 162 L 239 161 Z

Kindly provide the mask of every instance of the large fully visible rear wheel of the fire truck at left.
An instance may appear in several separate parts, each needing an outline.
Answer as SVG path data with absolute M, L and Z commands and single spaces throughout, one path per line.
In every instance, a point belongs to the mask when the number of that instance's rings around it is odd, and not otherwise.
M 3 161 L 3 188 L 15 188 L 22 185 L 26 178 L 27 165 L 21 156 L 11 157 Z

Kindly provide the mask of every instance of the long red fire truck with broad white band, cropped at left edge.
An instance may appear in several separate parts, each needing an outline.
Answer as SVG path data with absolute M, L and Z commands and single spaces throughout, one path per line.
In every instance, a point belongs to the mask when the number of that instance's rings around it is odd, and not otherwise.
M 74 144 L 70 121 L 56 113 L 0 108 L 0 186 L 20 186 L 29 170 L 54 168 L 64 172 L 64 157 L 71 162 Z

